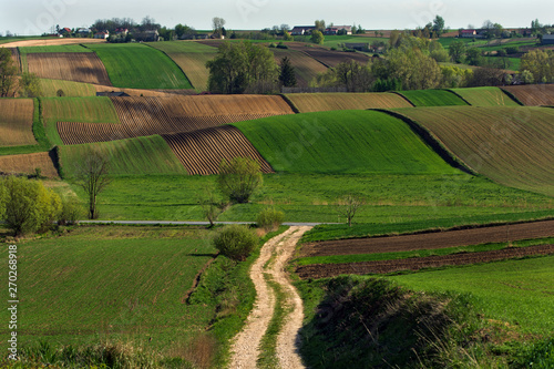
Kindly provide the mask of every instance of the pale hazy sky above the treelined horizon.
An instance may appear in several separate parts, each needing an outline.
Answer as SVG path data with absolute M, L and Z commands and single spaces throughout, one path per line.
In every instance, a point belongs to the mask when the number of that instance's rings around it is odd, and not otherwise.
M 228 30 L 258 30 L 273 25 L 327 23 L 359 24 L 367 30 L 414 29 L 435 16 L 452 29 L 480 27 L 485 20 L 505 28 L 530 27 L 531 21 L 554 23 L 552 0 L 0 0 L 0 33 L 42 34 L 52 27 L 89 27 L 96 19 L 146 16 L 173 28 L 177 23 L 207 30 L 212 19 L 225 19 Z

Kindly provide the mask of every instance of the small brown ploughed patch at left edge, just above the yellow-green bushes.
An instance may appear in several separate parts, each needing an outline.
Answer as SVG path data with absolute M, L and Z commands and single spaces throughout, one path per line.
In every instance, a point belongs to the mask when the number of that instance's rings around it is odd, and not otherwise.
M 0 156 L 0 172 L 8 174 L 33 174 L 40 167 L 45 177 L 58 177 L 52 157 L 49 153 L 33 153 Z

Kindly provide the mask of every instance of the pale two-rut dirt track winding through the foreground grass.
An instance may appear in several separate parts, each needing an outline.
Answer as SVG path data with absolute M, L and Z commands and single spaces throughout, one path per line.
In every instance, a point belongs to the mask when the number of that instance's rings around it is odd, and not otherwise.
M 259 346 L 275 312 L 276 296 L 268 280 L 278 284 L 285 293 L 284 306 L 288 307 L 288 315 L 283 319 L 274 342 L 276 367 L 305 368 L 298 355 L 298 330 L 304 319 L 302 301 L 288 279 L 285 265 L 300 237 L 309 229 L 309 226 L 291 226 L 261 247 L 259 258 L 250 269 L 250 278 L 256 286 L 256 304 L 243 331 L 233 340 L 229 368 L 258 368 L 257 361 L 261 355 Z

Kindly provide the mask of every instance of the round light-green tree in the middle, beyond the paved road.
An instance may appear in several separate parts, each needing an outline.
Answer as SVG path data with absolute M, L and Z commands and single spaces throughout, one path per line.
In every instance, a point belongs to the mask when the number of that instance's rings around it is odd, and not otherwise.
M 263 182 L 259 164 L 252 158 L 223 160 L 219 165 L 219 176 L 217 177 L 219 191 L 233 203 L 248 203 L 250 196 L 261 186 Z

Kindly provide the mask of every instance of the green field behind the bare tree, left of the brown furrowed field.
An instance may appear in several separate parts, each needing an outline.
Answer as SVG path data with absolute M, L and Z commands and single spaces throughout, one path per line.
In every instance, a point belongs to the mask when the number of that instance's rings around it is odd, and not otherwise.
M 61 166 L 69 177 L 89 150 L 104 153 L 117 175 L 186 174 L 164 139 L 158 135 L 60 147 Z

